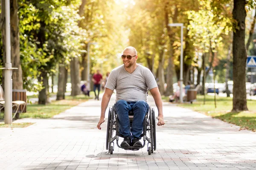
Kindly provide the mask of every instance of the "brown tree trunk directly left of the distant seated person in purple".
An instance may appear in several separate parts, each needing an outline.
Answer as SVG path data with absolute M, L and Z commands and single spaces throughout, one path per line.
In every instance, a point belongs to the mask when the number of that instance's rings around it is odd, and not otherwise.
M 80 94 L 79 82 L 79 60 L 73 57 L 70 62 L 71 96 Z

